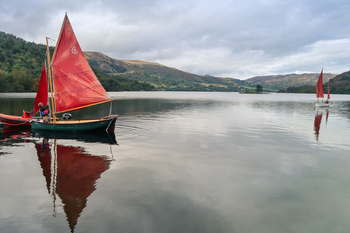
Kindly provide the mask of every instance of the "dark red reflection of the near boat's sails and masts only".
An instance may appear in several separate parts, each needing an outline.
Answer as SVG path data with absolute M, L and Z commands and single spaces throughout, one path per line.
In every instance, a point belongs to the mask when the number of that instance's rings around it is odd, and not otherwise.
M 59 145 L 57 139 L 43 138 L 35 143 L 47 190 L 53 200 L 53 215 L 62 206 L 71 232 L 96 190 L 96 181 L 111 163 L 109 157 L 87 153 L 83 147 Z M 58 210 L 59 211 L 59 210 Z

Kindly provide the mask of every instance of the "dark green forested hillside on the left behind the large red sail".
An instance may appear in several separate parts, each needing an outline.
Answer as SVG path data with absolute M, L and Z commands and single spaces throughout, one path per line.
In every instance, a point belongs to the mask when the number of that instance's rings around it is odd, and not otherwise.
M 54 47 L 50 47 L 50 54 Z M 0 31 L 0 92 L 36 92 L 47 47 Z M 107 91 L 155 90 L 147 82 L 113 76 L 92 68 Z

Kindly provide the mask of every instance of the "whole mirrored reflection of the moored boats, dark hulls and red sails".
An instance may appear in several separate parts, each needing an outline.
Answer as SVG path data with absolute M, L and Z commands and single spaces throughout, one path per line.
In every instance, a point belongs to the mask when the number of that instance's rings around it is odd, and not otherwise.
M 6 128 L 0 140 L 33 143 L 37 158 L 45 177 L 48 193 L 52 197 L 53 215 L 64 212 L 71 232 L 87 203 L 87 198 L 96 189 L 96 182 L 109 169 L 111 156 L 98 156 L 86 152 L 84 145 L 92 143 L 118 145 L 114 132 L 99 133 L 55 133 L 33 131 L 32 129 Z M 81 141 L 71 146 L 70 140 Z M 76 144 L 76 143 L 74 143 Z M 13 144 L 16 145 L 16 144 Z M 111 148 L 112 153 L 112 148 Z M 62 208 L 62 209 L 60 209 Z

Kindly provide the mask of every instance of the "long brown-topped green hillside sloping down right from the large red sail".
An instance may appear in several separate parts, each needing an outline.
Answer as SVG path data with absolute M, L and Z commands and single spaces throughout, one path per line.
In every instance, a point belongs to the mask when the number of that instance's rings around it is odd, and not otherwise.
M 240 92 L 256 87 L 239 79 L 191 74 L 158 63 L 114 59 L 100 52 L 84 52 L 84 55 L 90 66 L 111 77 L 118 75 L 149 82 L 156 90 Z

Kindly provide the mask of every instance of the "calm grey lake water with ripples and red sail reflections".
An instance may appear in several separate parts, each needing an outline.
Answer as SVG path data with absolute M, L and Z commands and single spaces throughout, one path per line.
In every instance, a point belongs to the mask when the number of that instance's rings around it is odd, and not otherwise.
M 0 131 L 0 232 L 349 232 L 350 95 L 109 94 L 117 144 Z M 34 99 L 0 94 L 0 113 Z

